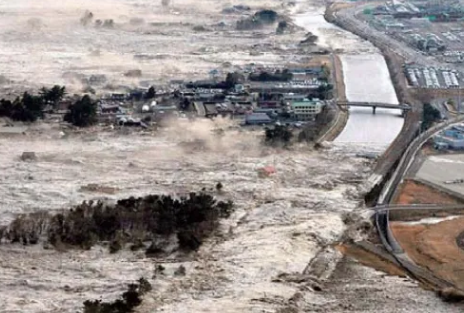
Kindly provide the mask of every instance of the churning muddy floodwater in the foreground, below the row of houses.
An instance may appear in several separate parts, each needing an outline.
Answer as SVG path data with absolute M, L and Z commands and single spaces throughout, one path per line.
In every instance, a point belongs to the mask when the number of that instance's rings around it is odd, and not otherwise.
M 206 243 L 183 263 L 188 275 L 174 278 L 173 260 L 147 260 L 143 252 L 107 249 L 55 252 L 41 245 L 1 245 L 0 303 L 8 312 L 76 312 L 84 299 L 114 298 L 124 283 L 150 278 L 154 264 L 166 263 L 167 275 L 156 286 L 147 312 L 204 312 L 228 307 L 228 312 L 277 308 L 252 299 L 289 298 L 297 290 L 273 283 L 279 273 L 301 273 L 308 262 L 344 232 L 344 213 L 360 200 L 366 161 L 305 147 L 292 151 L 262 146 L 260 133 L 212 133 L 209 121 L 177 125 L 156 134 L 111 133 L 70 135 L 58 131 L 11 140 L 0 139 L 2 178 L 0 221 L 14 214 L 66 208 L 85 199 L 118 199 L 148 193 L 182 195 L 224 185 L 216 195 L 232 199 L 236 212 L 221 226 L 223 240 Z M 186 142 L 199 144 L 192 150 Z M 24 151 L 36 161 L 21 161 Z M 260 178 L 258 170 L 274 166 L 276 174 Z M 113 187 L 114 194 L 82 191 L 88 184 Z M 14 261 L 13 261 L 14 260 Z M 151 265 L 150 265 L 151 264 Z M 56 272 L 59 268 L 59 272 Z M 151 274 L 150 274 L 151 273 Z M 65 288 L 65 286 L 68 286 Z M 33 296 L 32 296 L 33 295 Z M 195 297 L 187 300 L 185 297 Z M 187 309 L 188 308 L 188 309 Z

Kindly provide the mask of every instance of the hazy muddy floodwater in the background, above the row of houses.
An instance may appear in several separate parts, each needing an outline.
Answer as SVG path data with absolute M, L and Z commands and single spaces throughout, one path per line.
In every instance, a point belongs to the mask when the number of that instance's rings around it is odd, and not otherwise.
M 263 6 L 282 11 L 280 1 L 253 1 L 249 11 L 223 13 L 232 5 L 212 0 L 171 1 L 168 7 L 161 0 L 3 1 L 0 87 L 64 84 L 80 90 L 93 79 L 94 87 L 117 89 L 295 60 L 292 46 L 303 32 L 277 36 L 275 27 L 235 29 L 239 19 Z M 83 25 L 86 11 L 93 19 Z M 98 26 L 97 21 L 109 20 L 110 26 Z M 141 76 L 127 75 L 131 70 Z

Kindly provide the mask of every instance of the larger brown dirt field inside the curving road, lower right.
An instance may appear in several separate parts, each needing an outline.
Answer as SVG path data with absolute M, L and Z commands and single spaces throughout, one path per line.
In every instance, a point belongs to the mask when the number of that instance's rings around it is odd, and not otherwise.
M 464 218 L 434 224 L 391 223 L 401 247 L 418 265 L 464 290 L 464 251 L 456 243 Z

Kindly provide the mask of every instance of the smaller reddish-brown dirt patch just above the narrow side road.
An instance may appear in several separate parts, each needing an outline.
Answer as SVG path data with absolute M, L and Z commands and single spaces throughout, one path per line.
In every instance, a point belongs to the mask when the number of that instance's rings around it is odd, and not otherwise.
M 458 200 L 413 180 L 405 180 L 401 185 L 395 204 L 459 204 Z

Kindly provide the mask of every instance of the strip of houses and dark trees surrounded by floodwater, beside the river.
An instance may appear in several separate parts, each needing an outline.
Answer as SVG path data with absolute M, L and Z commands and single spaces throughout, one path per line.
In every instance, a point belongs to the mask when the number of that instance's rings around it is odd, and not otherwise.
M 316 127 L 316 116 L 326 105 L 335 105 L 331 101 L 332 91 L 331 67 L 327 64 L 281 69 L 254 67 L 249 73 L 229 73 L 223 80 L 212 75 L 209 80 L 176 81 L 161 90 L 151 86 L 82 99 L 68 95 L 65 86 L 56 85 L 42 88 L 37 95 L 25 93 L 13 102 L 2 100 L 0 116 L 20 121 L 64 118 L 75 126 L 101 123 L 141 128 L 162 126 L 177 119 L 220 116 L 243 127 L 311 128 Z M 24 129 L 0 129 L 0 133 L 15 131 L 22 133 Z

